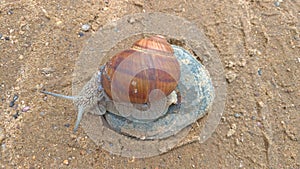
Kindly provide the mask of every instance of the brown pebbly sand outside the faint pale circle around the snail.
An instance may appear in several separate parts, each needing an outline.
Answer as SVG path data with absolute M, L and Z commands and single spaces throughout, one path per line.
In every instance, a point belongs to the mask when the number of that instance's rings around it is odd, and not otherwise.
M 226 108 L 203 144 L 119 157 L 82 128 L 72 133 L 72 102 L 39 90 L 71 94 L 75 60 L 94 31 L 154 11 L 193 21 L 215 45 L 228 78 Z M 80 37 L 84 23 L 91 29 Z M 2 0 L 0 168 L 300 168 L 299 28 L 297 0 Z

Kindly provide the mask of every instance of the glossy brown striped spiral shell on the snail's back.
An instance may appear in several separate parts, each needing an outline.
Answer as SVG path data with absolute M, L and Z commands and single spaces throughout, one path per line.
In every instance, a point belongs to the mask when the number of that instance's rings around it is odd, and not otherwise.
M 135 73 L 139 66 L 147 69 Z M 119 78 L 114 78 L 116 71 L 121 75 Z M 116 84 L 113 92 L 118 92 L 119 101 L 128 100 L 129 95 L 131 103 L 147 103 L 152 90 L 159 89 L 168 96 L 176 88 L 180 66 L 171 45 L 163 36 L 156 35 L 138 40 L 130 49 L 116 54 L 105 64 L 102 86 L 110 98 L 113 78 Z M 128 79 L 131 79 L 130 85 Z

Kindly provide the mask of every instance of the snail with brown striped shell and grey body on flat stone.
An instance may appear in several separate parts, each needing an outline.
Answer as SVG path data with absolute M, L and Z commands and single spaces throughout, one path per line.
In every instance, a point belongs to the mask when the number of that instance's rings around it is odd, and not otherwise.
M 155 35 L 138 40 L 130 49 L 100 66 L 77 96 L 41 92 L 74 101 L 78 108 L 76 132 L 85 112 L 96 110 L 95 114 L 104 115 L 109 111 L 120 115 L 111 104 L 106 104 L 112 101 L 132 103 L 136 107 L 151 106 L 149 96 L 155 89 L 163 95 L 151 95 L 152 100 L 167 99 L 167 108 L 177 104 L 175 89 L 179 79 L 180 65 L 172 46 L 163 36 Z

